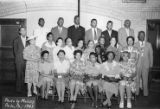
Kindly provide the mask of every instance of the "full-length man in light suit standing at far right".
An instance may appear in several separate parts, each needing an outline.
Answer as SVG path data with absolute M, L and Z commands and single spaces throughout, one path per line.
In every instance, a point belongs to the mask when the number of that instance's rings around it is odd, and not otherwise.
M 135 46 L 140 51 L 140 57 L 137 65 L 137 92 L 139 95 L 140 79 L 142 77 L 143 95 L 148 96 L 148 73 L 149 69 L 153 66 L 153 50 L 152 45 L 145 41 L 145 32 L 138 33 L 138 42 Z

